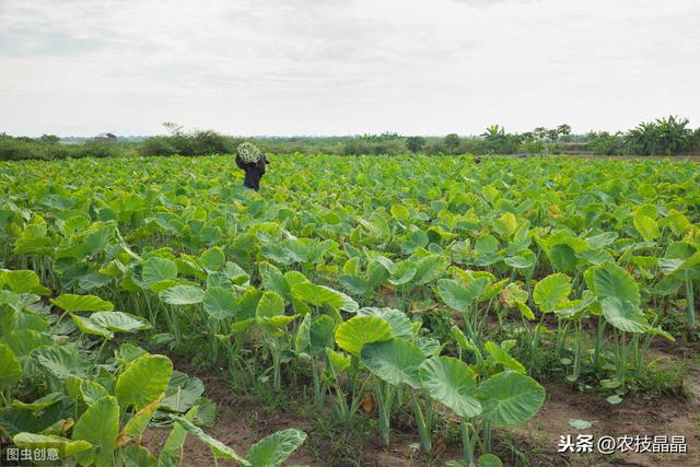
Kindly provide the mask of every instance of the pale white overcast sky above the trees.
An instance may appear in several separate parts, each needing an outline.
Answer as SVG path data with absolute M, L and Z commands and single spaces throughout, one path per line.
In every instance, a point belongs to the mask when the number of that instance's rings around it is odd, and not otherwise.
M 0 0 L 0 132 L 700 126 L 699 0 Z

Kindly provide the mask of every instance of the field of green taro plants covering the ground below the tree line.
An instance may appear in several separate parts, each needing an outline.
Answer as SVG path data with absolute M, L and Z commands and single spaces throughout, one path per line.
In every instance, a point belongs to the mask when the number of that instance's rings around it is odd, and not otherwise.
M 700 465 L 697 163 L 268 159 L 259 192 L 224 155 L 0 163 L 3 446 Z

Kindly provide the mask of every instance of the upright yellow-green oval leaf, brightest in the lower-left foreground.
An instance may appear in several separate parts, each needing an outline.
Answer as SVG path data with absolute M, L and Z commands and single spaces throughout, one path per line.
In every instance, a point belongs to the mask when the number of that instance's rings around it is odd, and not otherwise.
M 133 361 L 117 378 L 115 393 L 122 408 L 141 410 L 167 388 L 173 362 L 165 355 L 143 355 Z

